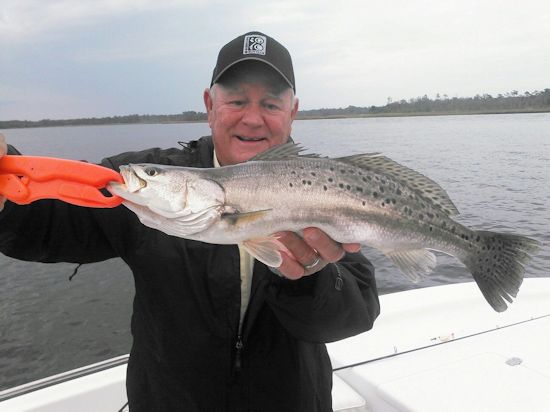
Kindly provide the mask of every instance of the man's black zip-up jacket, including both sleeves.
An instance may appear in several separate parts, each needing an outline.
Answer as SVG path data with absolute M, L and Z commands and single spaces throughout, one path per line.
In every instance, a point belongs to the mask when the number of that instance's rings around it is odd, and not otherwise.
M 102 164 L 212 167 L 212 151 L 206 137 L 183 150 L 124 153 Z M 40 262 L 119 256 L 129 265 L 136 295 L 127 390 L 134 412 L 330 411 L 324 343 L 370 329 L 379 313 L 374 269 L 361 254 L 297 281 L 256 261 L 237 349 L 238 248 L 168 236 L 124 206 L 8 202 L 0 213 L 0 251 Z

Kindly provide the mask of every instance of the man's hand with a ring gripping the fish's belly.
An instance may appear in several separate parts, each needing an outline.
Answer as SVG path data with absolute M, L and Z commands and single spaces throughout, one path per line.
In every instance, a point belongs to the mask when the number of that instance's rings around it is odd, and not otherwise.
M 329 263 L 337 262 L 346 252 L 359 252 L 359 243 L 338 243 L 315 227 L 303 231 L 303 238 L 294 232 L 278 233 L 279 241 L 292 253 L 282 252 L 283 263 L 279 272 L 289 279 L 312 275 Z

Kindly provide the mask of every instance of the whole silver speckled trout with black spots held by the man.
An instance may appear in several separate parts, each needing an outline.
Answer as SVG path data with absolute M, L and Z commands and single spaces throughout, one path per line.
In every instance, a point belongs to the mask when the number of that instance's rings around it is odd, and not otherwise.
M 221 168 L 134 164 L 109 190 L 149 227 L 216 244 L 240 244 L 281 264 L 274 233 L 315 226 L 342 243 L 383 252 L 412 281 L 432 272 L 432 251 L 455 256 L 496 311 L 516 297 L 533 239 L 469 229 L 449 196 L 426 176 L 378 154 L 325 158 L 294 143 Z

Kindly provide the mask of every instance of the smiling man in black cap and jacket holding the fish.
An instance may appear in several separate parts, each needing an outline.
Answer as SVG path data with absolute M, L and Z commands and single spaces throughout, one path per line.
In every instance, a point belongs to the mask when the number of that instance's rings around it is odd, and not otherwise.
M 262 33 L 225 45 L 204 92 L 212 136 L 184 150 L 150 149 L 105 159 L 213 167 L 243 162 L 286 142 L 298 110 L 288 51 Z M 4 149 L 3 149 L 3 148 Z M 0 155 L 5 144 L 0 144 Z M 124 207 L 58 201 L 0 213 L 0 251 L 42 262 L 120 256 L 136 296 L 127 374 L 131 411 L 330 411 L 324 343 L 372 327 L 379 303 L 359 245 L 316 228 L 282 233 L 279 268 L 234 245 L 180 239 L 141 225 Z

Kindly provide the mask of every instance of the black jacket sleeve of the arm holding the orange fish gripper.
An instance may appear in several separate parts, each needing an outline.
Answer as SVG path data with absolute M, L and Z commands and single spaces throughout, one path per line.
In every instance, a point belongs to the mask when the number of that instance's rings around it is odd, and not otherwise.
M 18 154 L 10 147 L 10 154 Z M 107 158 L 102 166 L 115 170 L 129 162 L 160 162 L 166 151 L 149 149 Z M 36 262 L 99 262 L 124 256 L 138 238 L 136 216 L 124 206 L 94 209 L 57 200 L 29 205 L 6 202 L 0 212 L 0 252 Z

